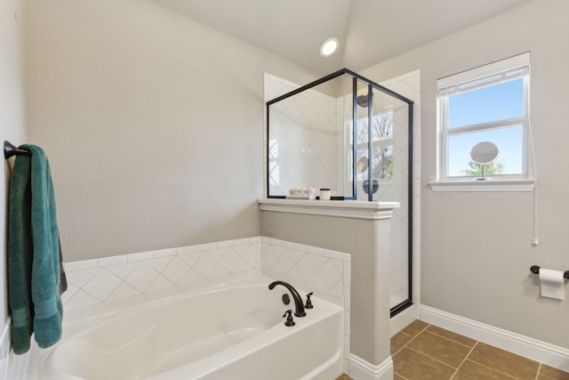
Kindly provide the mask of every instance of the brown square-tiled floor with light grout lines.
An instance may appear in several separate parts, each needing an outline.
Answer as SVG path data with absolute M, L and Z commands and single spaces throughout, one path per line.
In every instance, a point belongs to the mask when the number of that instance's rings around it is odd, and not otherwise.
M 394 380 L 569 380 L 569 373 L 415 320 L 391 338 Z

